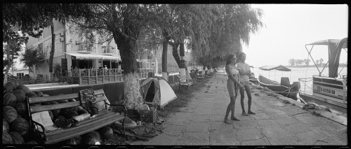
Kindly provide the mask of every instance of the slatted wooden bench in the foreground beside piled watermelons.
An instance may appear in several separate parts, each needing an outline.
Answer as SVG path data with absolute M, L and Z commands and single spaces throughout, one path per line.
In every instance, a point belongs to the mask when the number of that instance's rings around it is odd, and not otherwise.
M 30 131 L 34 133 L 34 136 L 38 136 L 42 141 L 41 143 L 51 144 L 57 143 L 60 141 L 65 141 L 67 139 L 71 139 L 74 136 L 80 136 L 82 134 L 86 134 L 96 129 L 100 129 L 101 127 L 105 127 L 107 125 L 111 125 L 118 120 L 123 120 L 123 131 L 124 131 L 124 118 L 126 118 L 127 109 L 124 105 L 120 104 L 108 104 L 107 98 L 105 97 L 105 92 L 101 90 L 94 90 L 95 97 L 98 101 L 105 102 L 105 109 L 99 111 L 98 115 L 95 118 L 91 118 L 88 120 L 83 120 L 79 122 L 78 126 L 68 127 L 68 128 L 60 128 L 58 130 L 46 132 L 46 131 L 38 131 L 36 128 L 39 126 L 42 130 L 45 130 L 44 126 L 39 122 L 35 122 L 32 120 L 32 113 L 38 113 L 41 111 L 52 111 L 55 109 L 62 108 L 71 108 L 75 106 L 81 106 L 80 95 L 79 93 L 74 94 L 61 94 L 57 96 L 50 97 L 30 97 L 27 98 L 27 105 L 29 109 L 29 128 Z M 102 96 L 101 96 L 102 95 Z M 42 106 L 34 106 L 33 104 L 39 104 L 42 102 L 48 101 L 61 101 L 67 99 L 76 99 L 76 101 L 62 103 L 62 104 L 51 104 L 51 105 L 42 105 Z M 111 107 L 107 109 L 107 105 Z M 120 113 L 114 113 L 112 111 L 112 106 L 122 106 L 124 108 L 124 115 Z M 125 137 L 125 132 L 124 132 Z

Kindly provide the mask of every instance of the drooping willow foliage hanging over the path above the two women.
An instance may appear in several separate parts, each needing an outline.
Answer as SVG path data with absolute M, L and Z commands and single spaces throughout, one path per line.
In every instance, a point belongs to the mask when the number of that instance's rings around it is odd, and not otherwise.
M 194 59 L 204 66 L 211 66 L 218 60 L 225 61 L 225 57 L 233 52 L 239 55 L 242 44 L 249 45 L 250 34 L 263 27 L 260 21 L 262 10 L 251 8 L 249 4 L 216 4 L 213 13 L 218 20 L 213 22 L 215 29 L 208 40 L 211 50 L 192 50 Z M 222 63 L 216 62 L 219 64 Z

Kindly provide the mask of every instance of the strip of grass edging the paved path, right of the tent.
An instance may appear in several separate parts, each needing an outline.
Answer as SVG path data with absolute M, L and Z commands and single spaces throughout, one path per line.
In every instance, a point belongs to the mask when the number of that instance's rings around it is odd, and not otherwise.
M 194 95 L 193 92 L 197 92 L 203 87 L 211 87 L 211 85 L 206 86 L 205 83 L 208 82 L 208 79 L 211 78 L 212 75 L 205 75 L 205 78 L 201 79 L 201 81 L 196 80 L 194 86 L 188 87 L 188 89 L 181 88 L 178 92 L 178 84 L 171 85 L 174 93 L 176 93 L 177 99 L 174 99 L 169 104 L 164 106 L 163 109 L 157 111 L 157 114 L 162 118 L 167 118 L 171 113 L 180 112 L 180 108 L 186 107 L 187 104 L 191 101 Z

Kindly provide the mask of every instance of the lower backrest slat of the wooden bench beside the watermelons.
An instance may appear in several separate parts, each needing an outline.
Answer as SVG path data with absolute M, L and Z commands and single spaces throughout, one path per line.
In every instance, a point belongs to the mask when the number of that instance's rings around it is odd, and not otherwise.
M 62 104 L 51 104 L 51 105 L 44 105 L 44 106 L 30 106 L 30 113 L 38 113 L 42 111 L 52 111 L 55 109 L 60 108 L 71 108 L 74 106 L 79 106 L 81 101 L 72 101 L 69 103 L 62 103 Z

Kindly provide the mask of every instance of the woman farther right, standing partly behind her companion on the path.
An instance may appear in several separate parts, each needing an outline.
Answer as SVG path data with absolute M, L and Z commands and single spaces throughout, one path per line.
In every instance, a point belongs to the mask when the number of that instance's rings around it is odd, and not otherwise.
M 251 89 L 249 85 L 249 76 L 251 76 L 251 71 L 250 71 L 249 64 L 246 64 L 245 60 L 246 60 L 246 54 L 244 52 L 241 52 L 239 55 L 238 70 L 240 74 L 240 84 L 243 85 L 244 87 L 240 88 L 240 104 L 242 109 L 242 115 L 249 116 L 247 113 L 249 114 L 256 114 L 256 113 L 253 113 L 251 111 Z M 245 106 L 244 106 L 245 91 L 248 97 L 247 104 L 249 106 L 247 113 L 245 112 Z

